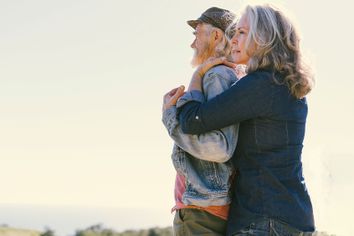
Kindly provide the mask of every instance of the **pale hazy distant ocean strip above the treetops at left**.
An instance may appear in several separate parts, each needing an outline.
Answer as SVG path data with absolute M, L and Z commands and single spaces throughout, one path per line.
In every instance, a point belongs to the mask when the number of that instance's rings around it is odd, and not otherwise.
M 57 236 L 72 236 L 95 224 L 124 231 L 167 227 L 172 220 L 168 209 L 0 205 L 0 225 L 39 231 L 49 227 Z

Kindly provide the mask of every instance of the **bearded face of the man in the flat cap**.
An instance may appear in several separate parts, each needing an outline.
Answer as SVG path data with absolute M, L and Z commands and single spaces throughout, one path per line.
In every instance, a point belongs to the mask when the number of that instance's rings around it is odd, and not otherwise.
M 194 49 L 192 66 L 199 66 L 212 55 L 210 48 L 211 33 L 206 29 L 205 24 L 198 24 L 193 32 L 195 39 L 191 44 Z

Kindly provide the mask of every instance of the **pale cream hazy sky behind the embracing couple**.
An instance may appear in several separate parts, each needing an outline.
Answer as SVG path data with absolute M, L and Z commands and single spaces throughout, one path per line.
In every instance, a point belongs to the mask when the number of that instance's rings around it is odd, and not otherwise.
M 211 6 L 266 2 L 287 9 L 316 77 L 303 162 L 317 227 L 353 235 L 349 0 L 0 1 L 0 204 L 170 217 L 175 172 L 161 105 L 193 72 L 186 21 Z

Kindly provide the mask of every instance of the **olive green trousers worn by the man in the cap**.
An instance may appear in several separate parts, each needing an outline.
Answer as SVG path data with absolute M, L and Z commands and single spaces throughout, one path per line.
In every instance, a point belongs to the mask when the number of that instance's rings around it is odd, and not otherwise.
M 174 236 L 226 235 L 226 220 L 199 209 L 180 209 L 173 221 Z

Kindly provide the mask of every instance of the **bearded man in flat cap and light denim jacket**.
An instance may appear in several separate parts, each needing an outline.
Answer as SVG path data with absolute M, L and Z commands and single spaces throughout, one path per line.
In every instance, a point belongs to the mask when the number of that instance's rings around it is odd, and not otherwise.
M 192 65 L 198 66 L 211 57 L 228 57 L 230 45 L 226 29 L 235 15 L 212 7 L 197 20 L 187 23 L 195 29 Z M 203 77 L 203 93 L 209 100 L 237 81 L 235 71 L 224 65 L 211 68 Z M 184 87 L 174 89 L 164 97 L 179 97 Z M 174 235 L 225 235 L 231 202 L 229 188 L 234 170 L 229 161 L 237 143 L 238 125 L 215 130 L 204 135 L 183 134 L 177 119 L 177 108 L 163 108 L 163 123 L 175 145 L 172 160 L 177 171 L 175 183 L 176 211 Z

